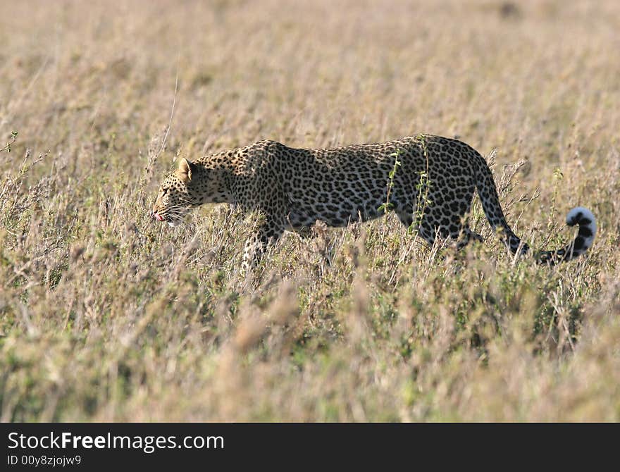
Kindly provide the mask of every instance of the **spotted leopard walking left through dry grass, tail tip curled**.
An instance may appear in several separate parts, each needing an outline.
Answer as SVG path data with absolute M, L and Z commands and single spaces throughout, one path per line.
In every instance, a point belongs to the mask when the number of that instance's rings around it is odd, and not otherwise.
M 459 249 L 483 237 L 469 227 L 475 192 L 505 247 L 552 266 L 571 261 L 593 244 L 597 223 L 583 206 L 566 224 L 578 225 L 561 249 L 531 251 L 508 225 L 485 158 L 459 139 L 419 134 L 375 144 L 296 149 L 273 140 L 182 158 L 159 187 L 151 218 L 176 226 L 192 208 L 227 203 L 261 218 L 247 238 L 242 270 L 261 261 L 285 231 L 311 234 L 316 222 L 329 227 L 379 218 L 394 211 L 399 221 L 433 245 L 438 237 Z

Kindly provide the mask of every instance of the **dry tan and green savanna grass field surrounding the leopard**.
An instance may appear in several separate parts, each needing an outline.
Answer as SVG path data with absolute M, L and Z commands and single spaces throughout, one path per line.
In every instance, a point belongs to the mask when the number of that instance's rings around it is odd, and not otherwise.
M 1 421 L 619 421 L 616 1 L 0 1 Z M 17 135 L 13 135 L 17 132 Z M 535 249 L 387 216 L 168 228 L 159 183 L 259 139 L 458 136 Z M 10 152 L 9 152 L 10 147 Z M 387 185 L 387 182 L 386 182 Z

